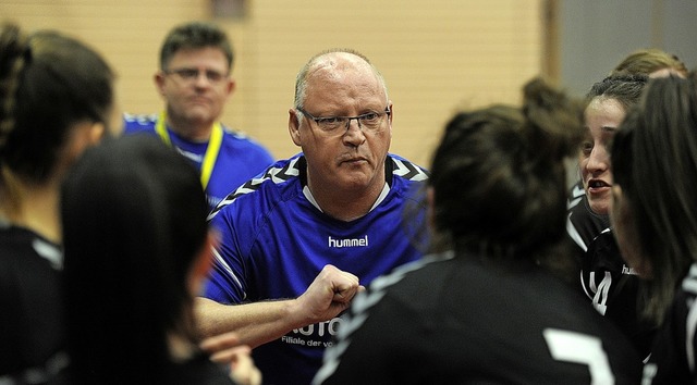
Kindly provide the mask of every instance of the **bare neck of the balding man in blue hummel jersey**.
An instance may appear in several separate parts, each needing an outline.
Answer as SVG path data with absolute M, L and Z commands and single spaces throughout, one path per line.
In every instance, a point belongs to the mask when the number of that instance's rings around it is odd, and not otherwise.
M 384 178 L 376 181 L 366 188 L 337 189 L 330 184 L 313 183 L 308 175 L 307 186 L 313 198 L 326 214 L 350 222 L 370 212 L 384 188 Z

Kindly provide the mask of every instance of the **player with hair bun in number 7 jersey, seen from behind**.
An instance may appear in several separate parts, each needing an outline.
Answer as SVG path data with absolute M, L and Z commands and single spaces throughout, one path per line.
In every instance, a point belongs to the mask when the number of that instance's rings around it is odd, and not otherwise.
M 641 361 L 572 287 L 563 158 L 580 105 L 542 80 L 523 108 L 456 114 L 430 167 L 433 253 L 353 301 L 315 384 L 636 384 Z

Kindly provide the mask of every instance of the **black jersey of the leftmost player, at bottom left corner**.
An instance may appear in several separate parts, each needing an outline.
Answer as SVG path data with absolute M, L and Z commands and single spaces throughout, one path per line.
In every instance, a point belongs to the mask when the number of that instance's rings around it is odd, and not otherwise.
M 61 269 L 57 245 L 0 224 L 0 383 L 42 383 L 65 364 Z

